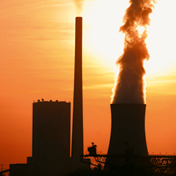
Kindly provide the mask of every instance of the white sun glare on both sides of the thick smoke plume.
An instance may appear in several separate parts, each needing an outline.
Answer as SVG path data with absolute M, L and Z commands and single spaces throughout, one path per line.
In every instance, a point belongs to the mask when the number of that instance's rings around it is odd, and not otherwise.
M 173 16 L 176 16 L 174 0 L 167 3 L 158 1 L 150 15 L 151 24 L 147 27 L 146 39 L 150 59 L 146 61 L 147 75 L 168 74 L 176 65 L 176 26 L 173 25 Z M 166 5 L 170 10 L 166 13 Z M 125 9 L 129 6 L 128 0 L 97 0 L 85 2 L 83 17 L 85 22 L 84 42 L 85 50 L 97 56 L 103 67 L 115 68 L 117 58 L 123 53 L 124 34 L 119 33 Z M 141 35 L 144 27 L 138 27 Z

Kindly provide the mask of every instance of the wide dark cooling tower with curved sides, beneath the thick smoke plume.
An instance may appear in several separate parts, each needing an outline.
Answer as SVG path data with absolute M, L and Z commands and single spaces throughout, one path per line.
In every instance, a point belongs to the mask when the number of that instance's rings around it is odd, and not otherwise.
M 108 155 L 131 152 L 147 155 L 145 104 L 111 104 L 111 138 Z

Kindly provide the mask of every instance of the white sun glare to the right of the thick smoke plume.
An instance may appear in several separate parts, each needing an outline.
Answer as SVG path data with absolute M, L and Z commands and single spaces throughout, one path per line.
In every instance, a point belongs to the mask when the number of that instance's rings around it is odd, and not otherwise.
M 147 47 L 150 54 L 145 62 L 147 75 L 169 75 L 176 66 L 176 26 L 173 16 L 176 16 L 174 1 L 167 3 L 160 0 L 151 14 L 151 25 L 148 27 Z M 167 9 L 170 9 L 166 12 Z

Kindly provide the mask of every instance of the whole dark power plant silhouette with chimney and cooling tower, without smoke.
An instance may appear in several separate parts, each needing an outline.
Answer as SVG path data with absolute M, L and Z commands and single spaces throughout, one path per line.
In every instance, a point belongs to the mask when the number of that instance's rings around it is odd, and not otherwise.
M 95 166 L 91 157 L 99 163 L 98 173 L 101 171 L 101 165 L 104 165 L 104 171 L 112 175 L 151 175 L 160 172 L 158 165 L 162 166 L 162 170 L 165 169 L 165 173 L 176 173 L 172 164 L 176 161 L 175 156 L 148 155 L 144 103 L 113 102 L 110 105 L 111 136 L 107 155 L 98 155 L 97 146 L 93 142 L 92 147 L 88 148 L 89 155 L 84 155 L 82 20 L 82 17 L 75 19 L 72 124 L 70 102 L 44 99 L 34 102 L 32 157 L 27 157 L 26 164 L 10 164 L 10 168 L 0 174 L 10 171 L 10 176 L 64 176 L 78 169 L 89 169 L 90 164 Z

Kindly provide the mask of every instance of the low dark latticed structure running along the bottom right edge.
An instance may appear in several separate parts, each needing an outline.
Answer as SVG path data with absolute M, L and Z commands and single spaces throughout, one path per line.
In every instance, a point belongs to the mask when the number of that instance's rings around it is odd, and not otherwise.
M 106 176 L 175 176 L 176 155 L 84 155 L 91 165 L 103 170 Z M 108 159 L 108 161 L 107 161 Z M 85 162 L 84 160 L 82 162 Z M 82 174 L 83 175 L 83 174 Z M 95 174 L 93 174 L 95 175 Z

